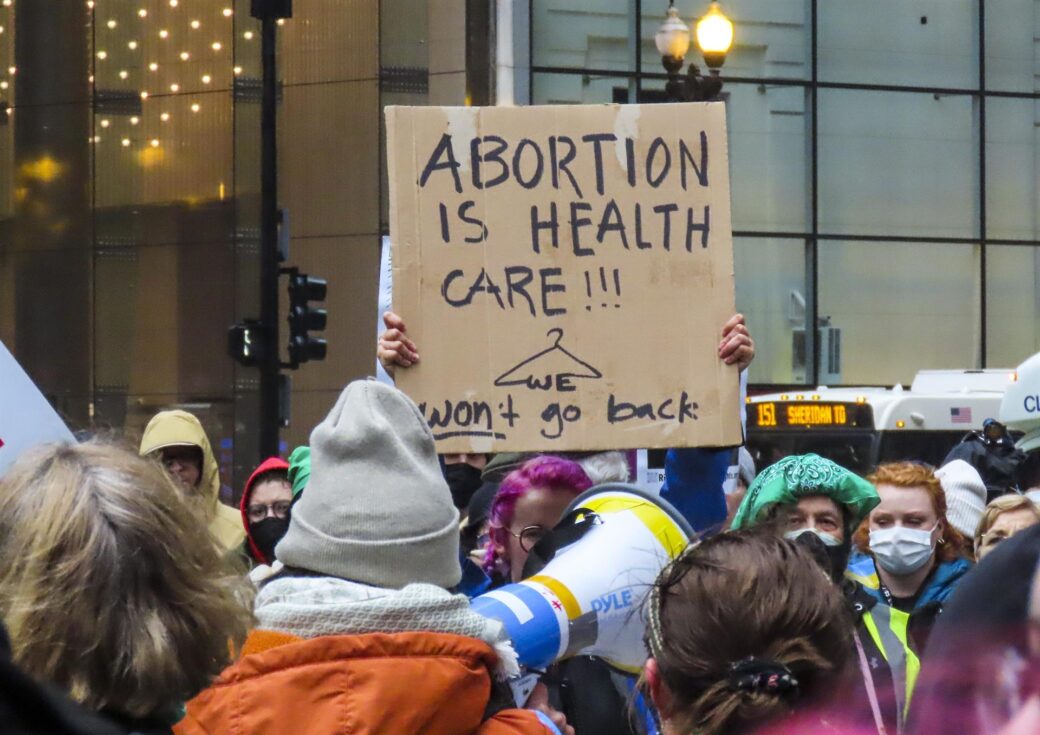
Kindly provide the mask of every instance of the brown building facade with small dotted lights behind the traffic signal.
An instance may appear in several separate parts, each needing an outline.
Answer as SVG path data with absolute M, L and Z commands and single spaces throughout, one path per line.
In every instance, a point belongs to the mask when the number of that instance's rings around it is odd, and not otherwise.
M 382 107 L 465 101 L 465 19 L 295 0 L 279 27 L 288 262 L 329 282 L 286 448 L 373 372 Z M 260 309 L 260 61 L 250 0 L 0 2 L 0 340 L 75 430 L 197 414 L 226 498 L 260 458 L 259 376 L 227 348 Z

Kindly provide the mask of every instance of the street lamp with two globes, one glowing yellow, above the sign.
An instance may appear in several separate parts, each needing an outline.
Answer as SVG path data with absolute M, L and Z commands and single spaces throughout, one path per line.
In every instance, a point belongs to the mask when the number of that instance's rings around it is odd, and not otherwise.
M 722 90 L 719 69 L 725 63 L 726 54 L 733 45 L 733 23 L 723 14 L 719 3 L 712 2 L 704 17 L 697 21 L 696 32 L 697 45 L 710 75 L 702 76 L 701 70 L 691 61 L 683 79 L 679 73 L 690 51 L 690 26 L 679 18 L 675 5 L 670 5 L 665 22 L 654 36 L 661 65 L 668 72 L 665 93 L 670 101 L 705 102 L 714 100 Z

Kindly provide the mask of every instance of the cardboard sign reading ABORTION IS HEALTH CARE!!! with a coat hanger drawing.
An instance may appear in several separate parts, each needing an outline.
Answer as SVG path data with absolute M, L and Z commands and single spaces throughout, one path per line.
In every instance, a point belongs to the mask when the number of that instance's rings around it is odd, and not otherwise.
M 397 371 L 442 452 L 739 443 L 721 104 L 388 107 Z

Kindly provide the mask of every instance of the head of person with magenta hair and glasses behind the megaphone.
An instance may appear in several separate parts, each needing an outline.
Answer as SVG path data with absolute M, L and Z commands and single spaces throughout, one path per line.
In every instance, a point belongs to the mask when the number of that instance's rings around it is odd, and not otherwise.
M 485 571 L 514 582 L 523 579 L 523 567 L 535 544 L 560 522 L 571 501 L 591 487 L 580 465 L 557 456 L 536 456 L 508 474 L 488 514 Z

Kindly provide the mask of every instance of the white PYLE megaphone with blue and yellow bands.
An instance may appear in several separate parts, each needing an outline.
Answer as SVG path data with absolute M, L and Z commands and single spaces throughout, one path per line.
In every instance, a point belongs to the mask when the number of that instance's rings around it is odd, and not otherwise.
M 528 670 L 584 654 L 639 674 L 647 658 L 643 601 L 693 536 L 661 498 L 629 484 L 597 485 L 532 549 L 548 559 L 541 571 L 477 597 L 471 608 L 505 626 Z

